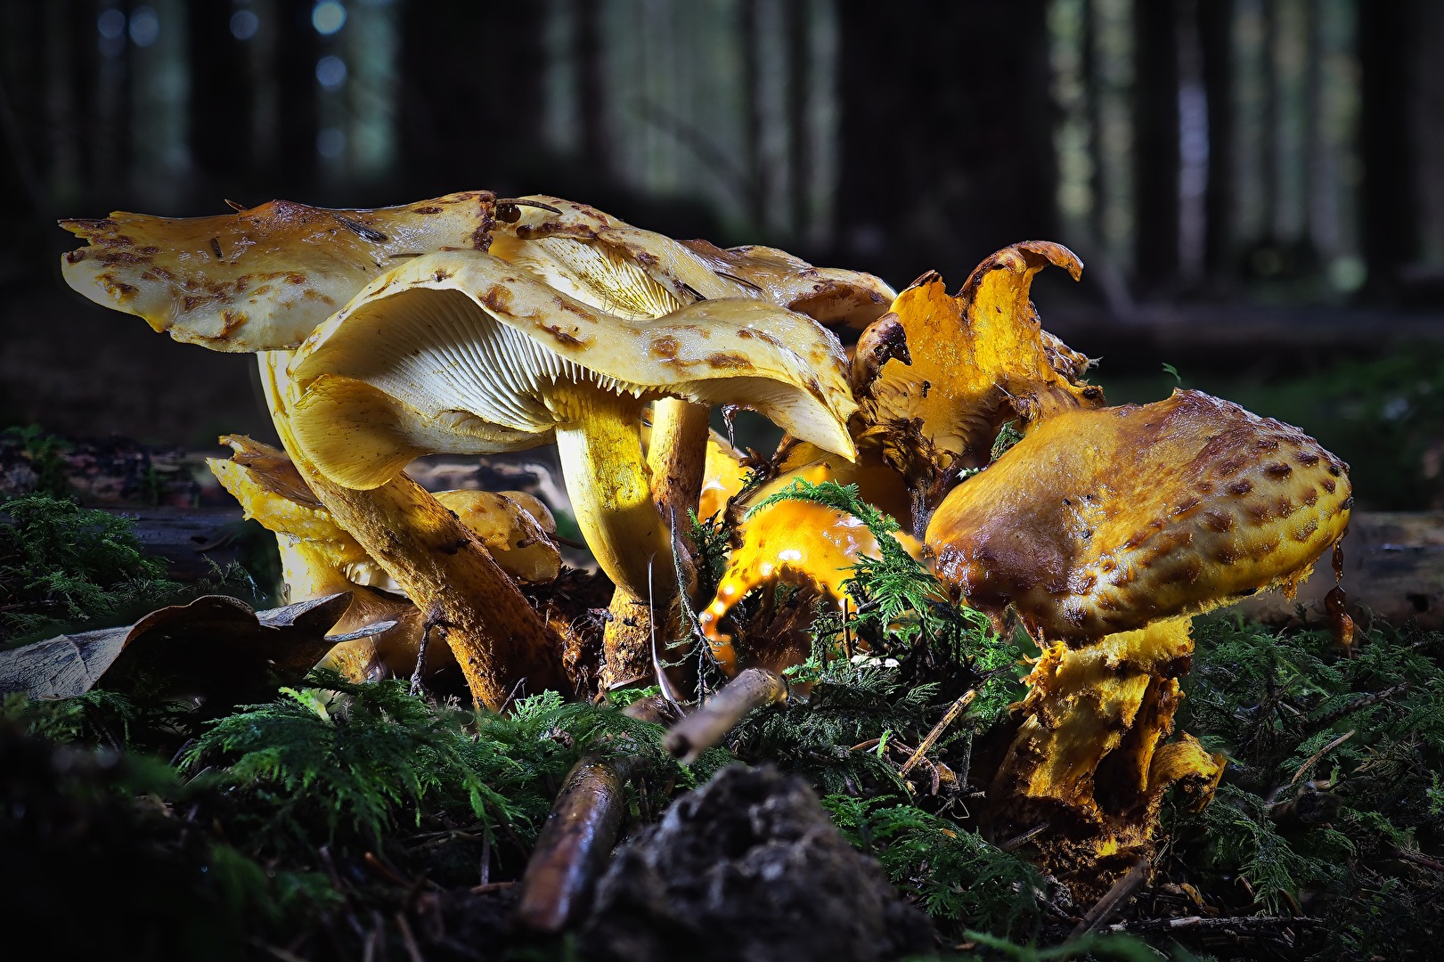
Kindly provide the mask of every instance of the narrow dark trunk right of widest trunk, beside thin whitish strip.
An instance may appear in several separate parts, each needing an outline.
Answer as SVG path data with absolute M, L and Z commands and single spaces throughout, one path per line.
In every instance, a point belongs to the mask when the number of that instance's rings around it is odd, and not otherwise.
M 1135 264 L 1148 295 L 1168 289 L 1178 272 L 1177 0 L 1148 0 L 1134 12 Z

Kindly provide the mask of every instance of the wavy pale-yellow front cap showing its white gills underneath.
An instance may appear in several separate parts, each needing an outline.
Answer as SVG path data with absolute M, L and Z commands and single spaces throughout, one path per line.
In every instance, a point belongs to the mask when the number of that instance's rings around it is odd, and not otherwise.
M 812 318 L 700 300 L 624 321 L 490 254 L 417 257 L 371 283 L 296 352 L 297 441 L 338 484 L 371 488 L 429 452 L 544 443 L 560 384 L 741 403 L 852 456 L 842 347 Z

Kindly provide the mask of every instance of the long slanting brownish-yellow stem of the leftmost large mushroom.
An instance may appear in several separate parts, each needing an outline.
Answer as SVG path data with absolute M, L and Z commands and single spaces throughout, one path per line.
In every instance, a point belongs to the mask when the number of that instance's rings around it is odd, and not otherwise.
M 370 491 L 322 475 L 289 420 L 290 351 L 257 355 L 282 443 L 335 521 L 446 631 L 472 698 L 497 711 L 516 685 L 562 688 L 560 641 L 479 540 L 404 474 Z

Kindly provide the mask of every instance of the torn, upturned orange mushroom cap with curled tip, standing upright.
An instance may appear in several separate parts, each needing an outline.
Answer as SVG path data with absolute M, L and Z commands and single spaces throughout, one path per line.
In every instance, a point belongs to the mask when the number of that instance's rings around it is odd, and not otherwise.
M 895 461 L 921 455 L 937 468 L 982 467 L 1004 422 L 1103 404 L 1102 390 L 1079 381 L 1087 358 L 1045 334 L 1028 302 L 1032 276 L 1050 263 L 1074 280 L 1083 272 L 1069 248 L 1024 241 L 979 264 L 956 298 L 936 273 L 897 296 L 877 324 L 902 326 L 911 363 L 885 360 L 858 386 L 859 417 L 884 430 L 915 426 L 920 438 L 892 443 L 934 451 L 904 451 Z

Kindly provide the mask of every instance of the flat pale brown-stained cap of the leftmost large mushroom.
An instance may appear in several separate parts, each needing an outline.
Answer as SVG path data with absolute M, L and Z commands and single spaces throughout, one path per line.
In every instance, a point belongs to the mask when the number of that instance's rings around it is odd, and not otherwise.
M 488 191 L 373 211 L 271 201 L 219 217 L 116 212 L 61 227 L 90 241 L 64 256 L 65 282 L 212 351 L 300 344 L 373 277 L 442 247 L 487 250 Z

